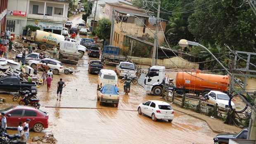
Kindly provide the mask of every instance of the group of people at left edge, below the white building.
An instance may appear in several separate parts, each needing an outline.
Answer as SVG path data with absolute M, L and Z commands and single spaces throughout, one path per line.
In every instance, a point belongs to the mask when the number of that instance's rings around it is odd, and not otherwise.
M 8 52 L 12 50 L 13 41 L 10 38 L 10 31 L 6 30 L 0 37 L 0 57 L 7 58 Z

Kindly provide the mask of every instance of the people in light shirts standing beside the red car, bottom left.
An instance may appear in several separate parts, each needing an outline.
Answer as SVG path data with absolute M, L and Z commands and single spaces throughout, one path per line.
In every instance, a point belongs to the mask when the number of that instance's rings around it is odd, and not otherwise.
M 19 144 L 26 144 L 29 138 L 29 125 L 28 125 L 29 122 L 30 122 L 29 118 L 27 118 L 26 122 L 24 123 L 22 123 L 21 121 L 19 122 L 19 126 L 18 126 L 18 135 L 20 137 Z M 7 128 L 7 120 L 5 117 L 5 113 L 1 113 L 1 132 L 6 132 L 6 128 Z

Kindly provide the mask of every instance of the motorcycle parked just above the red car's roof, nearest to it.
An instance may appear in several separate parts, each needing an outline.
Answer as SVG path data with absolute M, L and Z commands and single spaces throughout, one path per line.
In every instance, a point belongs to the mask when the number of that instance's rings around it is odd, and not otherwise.
M 29 95 L 32 95 L 31 93 L 25 94 L 24 98 L 19 101 L 19 105 L 24 105 L 24 106 L 33 106 L 36 109 L 40 108 L 40 100 L 38 98 L 32 99 L 29 97 Z

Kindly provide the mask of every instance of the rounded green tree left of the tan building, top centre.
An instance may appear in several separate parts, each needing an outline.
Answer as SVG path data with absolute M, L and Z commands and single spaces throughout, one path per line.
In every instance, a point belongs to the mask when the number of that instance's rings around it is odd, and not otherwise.
M 100 39 L 109 39 L 111 31 L 111 21 L 109 21 L 109 19 L 103 18 L 98 21 L 98 24 L 99 26 L 97 27 L 95 34 Z

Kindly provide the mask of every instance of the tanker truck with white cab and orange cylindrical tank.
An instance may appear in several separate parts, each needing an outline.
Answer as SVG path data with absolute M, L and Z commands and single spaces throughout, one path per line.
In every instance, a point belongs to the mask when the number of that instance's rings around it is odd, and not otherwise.
M 152 92 L 157 96 L 162 95 L 164 86 L 162 82 L 165 78 L 165 71 L 164 66 L 149 67 L 144 80 L 144 88 L 147 92 Z M 211 90 L 226 92 L 228 90 L 229 77 L 201 73 L 200 70 L 190 70 L 190 72 L 178 72 L 175 83 L 176 86 L 171 87 L 171 89 L 179 94 L 192 92 L 204 94 Z

